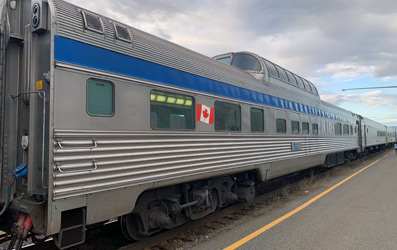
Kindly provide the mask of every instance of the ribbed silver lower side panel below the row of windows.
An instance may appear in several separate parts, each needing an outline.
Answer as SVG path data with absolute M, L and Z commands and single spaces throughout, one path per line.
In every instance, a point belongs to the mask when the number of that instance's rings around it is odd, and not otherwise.
M 54 142 L 54 199 L 188 175 L 199 179 L 205 172 L 254 168 L 255 164 L 356 146 L 354 137 L 94 131 L 56 131 L 55 137 L 62 148 Z M 291 151 L 293 141 L 302 143 L 301 151 Z

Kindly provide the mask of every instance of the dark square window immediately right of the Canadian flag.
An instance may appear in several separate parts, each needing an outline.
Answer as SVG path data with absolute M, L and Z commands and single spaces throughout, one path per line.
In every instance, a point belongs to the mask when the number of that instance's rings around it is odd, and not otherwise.
M 240 105 L 216 101 L 215 130 L 241 131 Z

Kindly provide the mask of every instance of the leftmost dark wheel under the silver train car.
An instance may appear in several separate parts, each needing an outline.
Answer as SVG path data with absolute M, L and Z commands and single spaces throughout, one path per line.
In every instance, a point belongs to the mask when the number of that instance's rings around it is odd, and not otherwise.
M 146 237 L 141 217 L 138 214 L 126 214 L 119 218 L 121 231 L 129 241 L 140 241 Z

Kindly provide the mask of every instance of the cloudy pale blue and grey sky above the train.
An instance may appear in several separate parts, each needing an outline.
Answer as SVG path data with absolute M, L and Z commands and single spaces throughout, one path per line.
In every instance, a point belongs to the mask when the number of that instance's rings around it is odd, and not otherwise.
M 67 0 L 209 57 L 250 51 L 321 99 L 397 125 L 395 0 Z

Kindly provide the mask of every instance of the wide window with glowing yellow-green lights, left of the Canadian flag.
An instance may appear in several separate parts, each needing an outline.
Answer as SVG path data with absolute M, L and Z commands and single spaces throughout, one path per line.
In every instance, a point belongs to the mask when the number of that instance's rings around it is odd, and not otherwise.
M 193 130 L 194 98 L 157 90 L 150 92 L 152 129 Z

